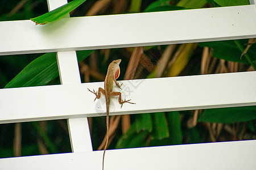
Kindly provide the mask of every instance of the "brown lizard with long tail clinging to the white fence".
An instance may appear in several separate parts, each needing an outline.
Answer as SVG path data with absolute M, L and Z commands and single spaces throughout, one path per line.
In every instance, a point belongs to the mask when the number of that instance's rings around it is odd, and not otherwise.
M 121 59 L 117 59 L 117 60 L 112 61 L 112 63 L 110 63 L 110 65 L 108 67 L 108 73 L 107 73 L 105 81 L 104 81 L 104 89 L 99 87 L 98 92 L 97 91 L 95 92 L 94 89 L 93 89 L 93 91 L 90 91 L 89 88 L 88 88 L 88 90 L 90 92 L 92 92 L 93 94 L 96 95 L 96 98 L 94 99 L 94 101 L 96 99 L 100 99 L 101 93 L 103 95 L 105 95 L 105 98 L 106 98 L 106 128 L 107 128 L 106 134 L 107 134 L 107 138 L 106 138 L 106 144 L 105 144 L 105 148 L 104 148 L 104 152 L 103 152 L 102 170 L 104 169 L 105 151 L 106 151 L 106 147 L 108 146 L 108 141 L 109 141 L 109 104 L 110 104 L 110 97 L 111 96 L 119 96 L 118 101 L 119 101 L 119 104 L 121 104 L 121 108 L 123 106 L 123 103 L 131 103 L 131 102 L 129 102 L 130 100 L 123 100 L 122 101 L 121 92 L 113 92 L 114 83 L 118 88 L 121 88 L 121 86 L 122 86 L 122 84 L 119 85 L 119 83 L 117 82 L 117 78 L 119 77 L 119 74 L 120 74 L 120 67 L 119 67 L 120 62 L 121 62 Z M 131 103 L 131 104 L 135 104 L 135 103 Z

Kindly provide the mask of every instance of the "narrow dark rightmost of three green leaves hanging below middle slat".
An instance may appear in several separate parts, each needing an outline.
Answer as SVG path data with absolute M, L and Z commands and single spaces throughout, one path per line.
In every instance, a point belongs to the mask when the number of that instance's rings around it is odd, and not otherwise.
M 171 145 L 182 144 L 182 131 L 179 112 L 169 112 L 167 118 Z

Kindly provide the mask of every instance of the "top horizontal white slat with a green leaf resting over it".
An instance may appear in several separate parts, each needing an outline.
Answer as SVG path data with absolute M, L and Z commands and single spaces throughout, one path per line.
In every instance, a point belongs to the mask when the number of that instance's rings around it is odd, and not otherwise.
M 0 55 L 256 37 L 255 5 L 0 22 Z

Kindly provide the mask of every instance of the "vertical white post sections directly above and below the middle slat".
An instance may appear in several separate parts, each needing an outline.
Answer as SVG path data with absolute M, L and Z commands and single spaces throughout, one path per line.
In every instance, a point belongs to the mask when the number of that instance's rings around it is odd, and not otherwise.
M 58 52 L 56 54 L 61 84 L 80 84 L 81 78 L 76 52 Z M 88 119 L 86 117 L 69 118 L 67 121 L 72 151 L 92 151 Z

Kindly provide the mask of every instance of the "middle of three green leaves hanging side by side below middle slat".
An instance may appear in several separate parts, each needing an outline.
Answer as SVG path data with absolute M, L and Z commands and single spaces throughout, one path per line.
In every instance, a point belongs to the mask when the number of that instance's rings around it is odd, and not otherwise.
M 164 139 L 170 136 L 167 119 L 164 112 L 151 114 L 153 120 L 153 130 L 151 139 Z

